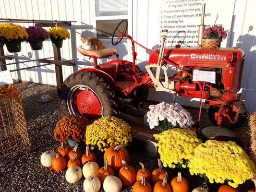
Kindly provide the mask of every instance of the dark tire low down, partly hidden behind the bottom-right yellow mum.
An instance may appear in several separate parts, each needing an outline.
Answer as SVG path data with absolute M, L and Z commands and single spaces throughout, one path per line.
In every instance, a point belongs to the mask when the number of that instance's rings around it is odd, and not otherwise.
M 208 126 L 203 128 L 199 134 L 198 138 L 202 139 L 203 143 L 207 140 L 218 140 L 218 141 L 233 141 L 241 147 L 244 147 L 243 143 L 239 138 L 236 137 L 235 132 L 232 130 L 221 127 L 221 126 Z

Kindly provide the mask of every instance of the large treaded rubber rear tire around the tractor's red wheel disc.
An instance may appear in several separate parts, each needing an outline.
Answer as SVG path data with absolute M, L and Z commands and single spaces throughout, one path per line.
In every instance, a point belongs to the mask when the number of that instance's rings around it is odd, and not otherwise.
M 79 84 L 89 87 L 98 96 L 103 109 L 102 117 L 112 116 L 119 112 L 115 101 L 115 93 L 102 77 L 93 72 L 75 72 L 63 82 L 61 87 L 61 110 L 64 114 L 71 114 L 68 102 L 72 101 L 67 101 L 68 95 L 72 87 Z

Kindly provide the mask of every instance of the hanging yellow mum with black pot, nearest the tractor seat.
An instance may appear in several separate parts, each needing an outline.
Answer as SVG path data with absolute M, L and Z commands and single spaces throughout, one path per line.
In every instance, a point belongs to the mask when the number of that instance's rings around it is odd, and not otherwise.
M 68 30 L 59 26 L 50 28 L 48 30 L 48 34 L 50 36 L 52 46 L 56 48 L 62 48 L 63 40 L 70 38 Z

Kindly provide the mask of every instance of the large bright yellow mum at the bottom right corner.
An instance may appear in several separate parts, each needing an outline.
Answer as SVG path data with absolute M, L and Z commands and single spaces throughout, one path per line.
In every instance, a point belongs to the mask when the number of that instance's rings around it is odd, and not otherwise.
M 236 188 L 238 184 L 253 178 L 255 166 L 235 142 L 209 140 L 195 148 L 189 171 L 192 175 L 206 176 L 210 183 L 228 181 L 229 185 Z

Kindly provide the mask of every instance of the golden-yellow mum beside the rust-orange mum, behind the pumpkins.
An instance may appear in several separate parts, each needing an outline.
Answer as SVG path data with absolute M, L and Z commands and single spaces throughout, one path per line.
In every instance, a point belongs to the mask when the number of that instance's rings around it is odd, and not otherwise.
M 103 117 L 94 121 L 86 128 L 86 144 L 106 151 L 115 144 L 128 144 L 132 141 L 131 126 L 117 117 Z M 94 147 L 91 147 L 94 149 Z

